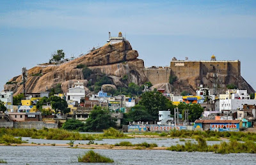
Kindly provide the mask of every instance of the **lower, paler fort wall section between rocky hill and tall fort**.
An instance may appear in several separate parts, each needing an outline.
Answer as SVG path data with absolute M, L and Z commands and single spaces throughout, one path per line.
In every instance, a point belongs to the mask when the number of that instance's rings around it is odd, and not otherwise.
M 145 68 L 144 73 L 148 80 L 156 85 L 157 83 L 168 83 L 171 69 L 167 68 Z

